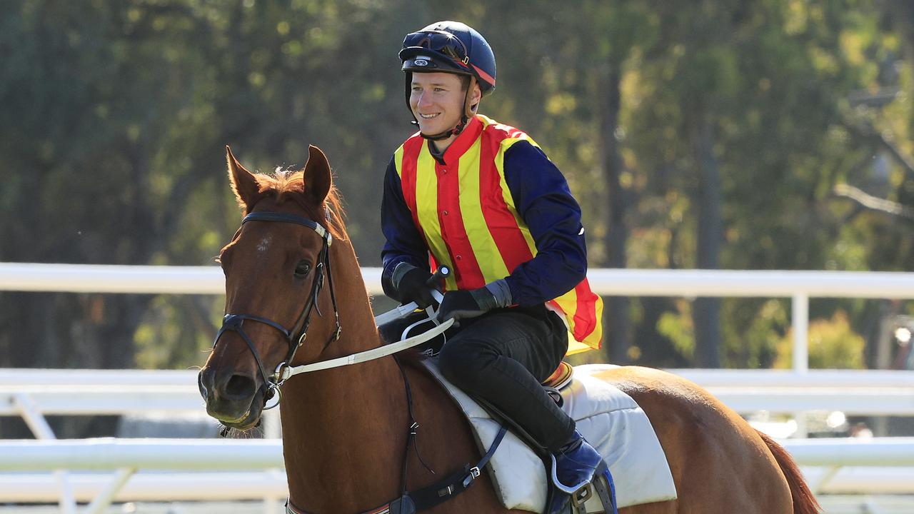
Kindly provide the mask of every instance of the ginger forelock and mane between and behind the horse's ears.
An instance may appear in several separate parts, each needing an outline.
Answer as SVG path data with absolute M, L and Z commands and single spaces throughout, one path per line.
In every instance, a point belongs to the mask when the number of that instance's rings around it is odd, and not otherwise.
M 314 205 L 306 201 L 303 196 L 304 191 L 304 170 L 292 171 L 288 169 L 276 168 L 269 175 L 255 173 L 259 186 L 260 198 L 274 197 L 277 203 L 292 201 L 302 207 L 315 221 L 327 221 L 327 229 L 333 234 L 335 239 L 345 240 L 348 235 L 345 231 L 345 210 L 340 201 L 339 192 L 335 185 L 331 184 L 330 192 L 324 198 L 322 211 L 315 210 Z M 253 203 L 257 203 L 256 201 Z M 242 205 L 241 209 L 248 214 L 246 206 Z

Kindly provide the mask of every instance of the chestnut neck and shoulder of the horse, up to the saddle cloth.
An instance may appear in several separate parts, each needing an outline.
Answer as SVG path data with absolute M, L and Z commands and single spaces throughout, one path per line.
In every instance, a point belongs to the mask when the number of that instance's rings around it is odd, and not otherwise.
M 355 252 L 348 241 L 341 246 L 332 264 L 342 336 L 321 359 L 380 345 Z M 469 424 L 447 393 L 419 365 L 404 362 L 403 369 L 419 423 L 416 448 L 408 454 L 414 420 L 394 359 L 305 373 L 283 386 L 282 446 L 293 505 L 319 514 L 363 512 L 399 497 L 405 487 L 404 456 L 409 459 L 410 490 L 479 459 Z M 473 487 L 449 501 L 447 509 L 503 511 L 492 487 Z

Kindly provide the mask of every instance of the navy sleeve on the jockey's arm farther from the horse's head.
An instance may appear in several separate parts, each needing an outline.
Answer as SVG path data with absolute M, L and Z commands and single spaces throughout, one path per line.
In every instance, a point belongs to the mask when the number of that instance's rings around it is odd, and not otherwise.
M 587 246 L 565 176 L 542 150 L 519 141 L 505 152 L 505 181 L 537 244 L 537 256 L 505 279 L 512 301 L 536 305 L 568 293 L 587 276 Z

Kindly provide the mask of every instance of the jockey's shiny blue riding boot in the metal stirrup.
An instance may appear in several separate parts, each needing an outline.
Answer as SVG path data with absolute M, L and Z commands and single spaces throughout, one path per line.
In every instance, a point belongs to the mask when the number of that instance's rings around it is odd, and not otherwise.
M 547 512 L 556 514 L 569 507 L 571 495 L 586 487 L 597 474 L 611 480 L 609 467 L 600 453 L 576 430 L 574 441 L 551 455 L 551 479 L 555 487 L 552 504 Z

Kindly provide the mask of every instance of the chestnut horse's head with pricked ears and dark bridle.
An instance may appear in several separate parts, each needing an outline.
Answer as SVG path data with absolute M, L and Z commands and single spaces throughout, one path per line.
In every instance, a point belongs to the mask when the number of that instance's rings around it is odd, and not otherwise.
M 245 217 L 219 255 L 226 316 L 198 385 L 209 415 L 245 430 L 276 393 L 278 368 L 316 358 L 335 337 L 335 316 L 321 313 L 335 310 L 324 284 L 338 204 L 330 165 L 316 146 L 302 171 L 272 176 L 251 174 L 226 150 Z M 305 333 L 312 344 L 302 345 Z

